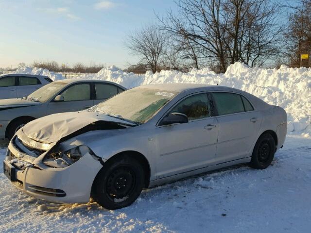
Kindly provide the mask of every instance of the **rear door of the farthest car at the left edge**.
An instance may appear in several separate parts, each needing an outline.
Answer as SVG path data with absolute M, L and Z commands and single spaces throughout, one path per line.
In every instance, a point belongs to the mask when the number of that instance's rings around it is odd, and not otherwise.
M 41 81 L 36 77 L 18 76 L 17 97 L 28 96 L 41 86 Z

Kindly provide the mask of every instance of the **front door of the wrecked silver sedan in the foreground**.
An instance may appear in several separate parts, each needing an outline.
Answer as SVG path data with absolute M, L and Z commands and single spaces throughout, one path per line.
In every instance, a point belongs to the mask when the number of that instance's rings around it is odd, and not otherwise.
M 218 124 L 210 115 L 207 93 L 181 100 L 170 113 L 188 116 L 189 122 L 158 126 L 157 178 L 203 168 L 214 163 Z

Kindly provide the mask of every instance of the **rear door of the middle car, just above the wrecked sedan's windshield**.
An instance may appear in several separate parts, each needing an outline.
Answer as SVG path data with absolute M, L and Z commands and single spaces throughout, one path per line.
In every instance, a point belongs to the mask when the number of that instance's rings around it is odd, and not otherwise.
M 94 104 L 98 104 L 110 97 L 121 93 L 123 89 L 111 83 L 94 83 L 95 100 Z

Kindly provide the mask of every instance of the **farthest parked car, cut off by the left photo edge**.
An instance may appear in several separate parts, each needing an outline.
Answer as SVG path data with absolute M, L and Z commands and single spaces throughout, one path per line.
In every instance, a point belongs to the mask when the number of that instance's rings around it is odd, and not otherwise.
M 23 98 L 48 83 L 52 83 L 52 79 L 43 75 L 2 74 L 0 75 L 0 100 Z

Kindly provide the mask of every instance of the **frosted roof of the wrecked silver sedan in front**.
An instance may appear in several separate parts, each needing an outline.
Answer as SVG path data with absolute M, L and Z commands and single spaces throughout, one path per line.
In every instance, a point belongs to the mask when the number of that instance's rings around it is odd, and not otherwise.
M 208 85 L 208 84 L 196 84 L 196 83 L 165 83 L 165 84 L 148 84 L 141 85 L 138 88 L 148 88 L 163 91 L 173 92 L 185 92 L 185 91 L 236 91 L 241 92 L 239 89 L 235 89 L 227 86 Z

